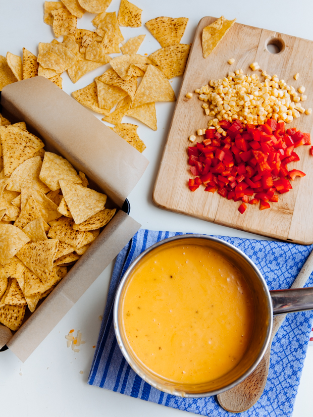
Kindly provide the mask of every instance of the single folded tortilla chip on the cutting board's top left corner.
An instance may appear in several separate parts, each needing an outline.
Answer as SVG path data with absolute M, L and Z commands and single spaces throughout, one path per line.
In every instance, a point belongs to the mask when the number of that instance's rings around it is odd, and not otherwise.
M 217 47 L 235 21 L 236 19 L 226 20 L 224 16 L 221 16 L 211 25 L 206 26 L 202 30 L 203 58 L 206 58 L 211 54 L 213 49 Z

